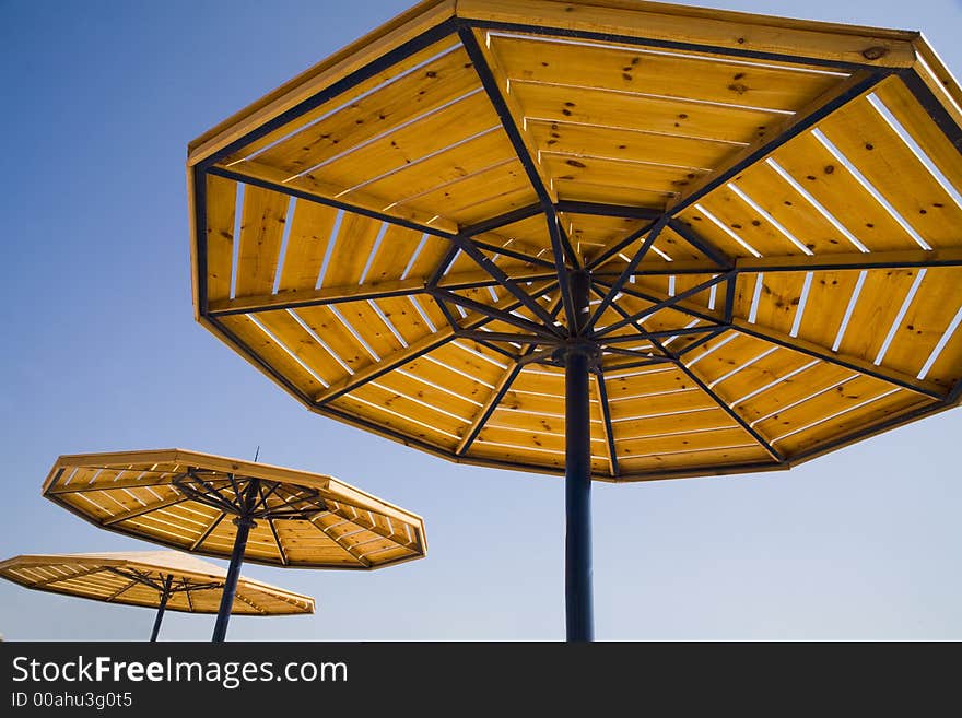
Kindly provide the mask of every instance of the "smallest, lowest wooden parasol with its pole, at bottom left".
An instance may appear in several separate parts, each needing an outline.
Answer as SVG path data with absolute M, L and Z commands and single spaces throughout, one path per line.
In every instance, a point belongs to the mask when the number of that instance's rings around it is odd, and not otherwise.
M 179 551 L 132 551 L 14 556 L 0 562 L 0 576 L 39 591 L 155 608 L 156 640 L 166 610 L 216 613 L 226 572 Z M 231 613 L 314 613 L 314 599 L 241 576 Z

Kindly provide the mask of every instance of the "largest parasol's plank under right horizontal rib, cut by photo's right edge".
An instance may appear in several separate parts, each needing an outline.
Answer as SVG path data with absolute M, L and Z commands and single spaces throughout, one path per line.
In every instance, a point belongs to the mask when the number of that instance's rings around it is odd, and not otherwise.
M 917 374 L 962 307 L 962 269 L 929 268 L 885 350 L 883 366 Z M 931 379 L 943 377 L 930 376 Z

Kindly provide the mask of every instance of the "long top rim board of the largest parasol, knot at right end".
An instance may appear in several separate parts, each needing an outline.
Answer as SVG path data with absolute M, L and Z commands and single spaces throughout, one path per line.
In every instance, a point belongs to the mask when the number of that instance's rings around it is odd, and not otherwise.
M 719 10 L 638 3 L 625 0 L 551 2 L 529 0 L 459 0 L 458 16 L 513 22 L 562 30 L 590 31 L 653 40 L 842 60 L 882 67 L 907 67 L 915 60 L 915 34 L 876 27 L 816 23 Z M 873 51 L 868 52 L 869 49 Z M 875 59 L 870 59 L 875 58 Z

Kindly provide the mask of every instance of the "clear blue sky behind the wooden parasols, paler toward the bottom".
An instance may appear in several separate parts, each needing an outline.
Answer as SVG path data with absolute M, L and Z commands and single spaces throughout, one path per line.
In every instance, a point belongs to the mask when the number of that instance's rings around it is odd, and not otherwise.
M 959 0 L 704 0 L 922 30 L 962 73 Z M 228 638 L 559 639 L 560 480 L 448 463 L 309 414 L 196 325 L 187 142 L 408 0 L 0 0 L 0 557 L 144 550 L 40 498 L 60 454 L 180 446 L 337 475 L 422 514 L 424 561 L 247 566 L 317 597 Z M 962 639 L 962 411 L 791 472 L 596 485 L 599 639 Z M 10 639 L 145 638 L 153 616 L 0 581 Z M 162 639 L 208 639 L 172 613 Z

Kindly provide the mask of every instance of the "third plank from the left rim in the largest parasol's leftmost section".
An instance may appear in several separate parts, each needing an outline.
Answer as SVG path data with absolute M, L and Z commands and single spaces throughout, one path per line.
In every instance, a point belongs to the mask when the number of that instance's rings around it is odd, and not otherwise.
M 331 207 L 295 200 L 279 292 L 313 290 L 317 285 L 337 216 L 338 210 Z

